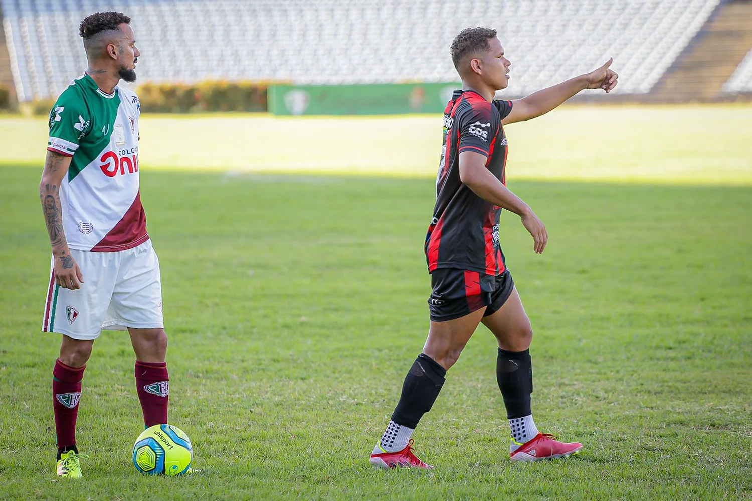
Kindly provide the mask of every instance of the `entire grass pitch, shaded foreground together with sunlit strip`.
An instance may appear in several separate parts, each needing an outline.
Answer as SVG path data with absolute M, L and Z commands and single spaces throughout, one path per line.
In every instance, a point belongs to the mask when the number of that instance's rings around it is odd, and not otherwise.
M 38 121 L 0 120 L 0 498 L 752 499 L 750 108 L 699 109 L 707 115 L 696 125 L 685 123 L 694 107 L 572 108 L 508 128 L 509 186 L 550 234 L 535 255 L 518 219 L 502 216 L 502 245 L 535 328 L 533 412 L 541 430 L 585 449 L 566 461 L 508 460 L 496 345 L 481 327 L 414 435 L 432 472 L 375 471 L 368 454 L 425 340 L 422 246 L 437 146 L 429 161 L 415 161 L 414 179 L 238 172 L 290 170 L 279 158 L 301 155 L 288 147 L 275 156 L 268 149 L 277 143 L 255 143 L 253 134 L 237 152 L 247 163 L 227 161 L 233 174 L 160 171 L 174 167 L 163 160 L 174 149 L 231 158 L 214 149 L 225 143 L 208 127 L 224 118 L 144 119 L 141 196 L 162 264 L 171 421 L 193 439 L 203 472 L 135 471 L 129 454 L 142 421 L 132 350 L 124 333 L 105 331 L 83 382 L 78 441 L 91 459 L 80 482 L 54 476 L 50 376 L 59 345 L 38 332 L 49 247 L 40 169 L 20 167 L 39 156 L 36 146 L 23 156 L 22 138 L 43 142 L 44 121 L 40 134 Z M 610 121 L 600 116 L 608 110 Z M 652 119 L 632 128 L 639 110 Z M 584 132 L 570 125 L 556 149 L 536 147 L 532 131 L 548 141 L 566 116 Z M 658 127 L 660 116 L 681 131 L 698 128 L 705 143 Z M 181 120 L 171 131 L 158 126 Z M 259 130 L 275 122 L 232 120 Z M 299 134 L 326 120 L 268 127 Z M 399 130 L 378 133 L 379 120 Z M 305 155 L 339 159 L 321 170 L 344 173 L 347 152 L 362 148 L 394 159 L 381 171 L 408 174 L 399 162 L 419 158 L 423 146 L 381 146 L 389 134 L 435 122 L 339 119 L 333 139 L 346 146 Z M 359 124 L 374 129 L 370 142 L 357 142 Z M 147 143 L 147 131 L 199 129 L 211 132 L 195 152 Z M 315 132 L 328 146 L 324 129 Z M 639 169 L 645 158 L 660 175 Z M 533 179 L 517 180 L 518 166 Z M 553 168 L 570 180 L 534 179 Z M 711 179 L 728 186 L 697 186 Z

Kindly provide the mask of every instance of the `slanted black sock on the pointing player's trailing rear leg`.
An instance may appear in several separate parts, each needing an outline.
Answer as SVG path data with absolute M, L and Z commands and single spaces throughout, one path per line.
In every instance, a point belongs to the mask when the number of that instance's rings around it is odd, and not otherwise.
M 433 358 L 423 353 L 418 355 L 402 383 L 402 395 L 392 421 L 414 430 L 420 418 L 431 410 L 446 375 L 447 370 Z

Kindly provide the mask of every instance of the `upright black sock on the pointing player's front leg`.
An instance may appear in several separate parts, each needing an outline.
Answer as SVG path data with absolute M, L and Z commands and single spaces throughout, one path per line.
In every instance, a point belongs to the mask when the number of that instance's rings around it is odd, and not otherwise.
M 496 382 L 504 397 L 507 418 L 524 418 L 532 414 L 530 394 L 532 394 L 532 361 L 530 350 L 508 352 L 499 348 L 496 359 Z

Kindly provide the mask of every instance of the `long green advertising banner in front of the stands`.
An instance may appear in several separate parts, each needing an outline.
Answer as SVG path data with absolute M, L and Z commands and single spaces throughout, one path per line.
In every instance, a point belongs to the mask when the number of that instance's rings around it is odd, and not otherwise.
M 274 115 L 442 113 L 459 88 L 459 83 L 274 85 L 267 102 Z

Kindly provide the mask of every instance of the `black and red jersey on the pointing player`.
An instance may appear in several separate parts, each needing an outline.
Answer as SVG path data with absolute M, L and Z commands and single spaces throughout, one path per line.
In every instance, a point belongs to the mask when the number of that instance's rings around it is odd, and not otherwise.
M 461 268 L 499 275 L 506 267 L 499 243 L 502 208 L 459 180 L 459 153 L 485 155 L 486 168 L 506 185 L 507 139 L 502 119 L 511 101 L 486 101 L 473 90 L 454 91 L 444 110 L 444 144 L 436 177 L 436 205 L 426 234 L 429 272 Z

